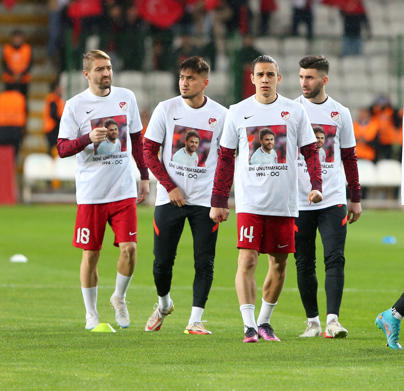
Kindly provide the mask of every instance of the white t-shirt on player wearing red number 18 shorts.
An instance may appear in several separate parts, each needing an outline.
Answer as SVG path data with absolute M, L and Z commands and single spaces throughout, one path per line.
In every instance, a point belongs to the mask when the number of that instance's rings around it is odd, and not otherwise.
M 129 133 L 140 132 L 142 124 L 132 91 L 112 86 L 108 96 L 98 97 L 87 89 L 69 99 L 63 110 L 59 138 L 75 140 L 94 127 L 103 127 L 108 118 L 118 122 L 119 139 L 125 147 L 121 152 L 94 155 L 94 143 L 91 143 L 76 155 L 78 204 L 114 202 L 137 196 Z

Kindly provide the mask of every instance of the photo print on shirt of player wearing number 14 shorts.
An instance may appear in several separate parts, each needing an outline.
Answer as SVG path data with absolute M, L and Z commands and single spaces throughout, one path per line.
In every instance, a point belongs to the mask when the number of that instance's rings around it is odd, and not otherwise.
M 286 125 L 246 127 L 249 146 L 248 163 L 286 163 L 286 129 Z

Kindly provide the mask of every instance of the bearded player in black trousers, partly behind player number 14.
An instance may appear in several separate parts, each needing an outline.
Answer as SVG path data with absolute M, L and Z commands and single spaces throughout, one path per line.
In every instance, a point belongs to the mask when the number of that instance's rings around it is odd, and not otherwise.
M 309 175 L 304 164 L 298 164 L 299 217 L 296 219 L 297 285 L 306 311 L 307 328 L 301 337 L 322 335 L 317 305 L 316 233 L 320 232 L 324 247 L 325 291 L 327 297 L 326 338 L 344 338 L 348 331 L 338 322 L 344 287 L 344 247 L 346 223 L 356 222 L 362 212 L 355 152 L 354 126 L 349 110 L 325 93 L 329 63 L 324 56 L 310 55 L 300 60 L 300 85 L 303 95 L 296 99 L 306 109 L 310 121 L 333 136 L 333 158 L 322 162 L 323 195 L 321 204 L 307 204 L 305 192 L 310 190 Z M 316 136 L 319 133 L 316 133 Z M 318 139 L 318 136 L 317 136 Z M 329 140 L 330 142 L 330 140 Z M 317 147 L 322 144 L 318 141 Z M 346 214 L 344 166 L 350 203 Z

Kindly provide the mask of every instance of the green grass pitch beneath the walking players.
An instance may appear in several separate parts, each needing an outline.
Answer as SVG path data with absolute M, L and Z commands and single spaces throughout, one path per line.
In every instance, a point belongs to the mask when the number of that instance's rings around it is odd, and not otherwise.
M 213 335 L 187 335 L 192 305 L 192 240 L 186 226 L 174 266 L 173 315 L 160 331 L 143 331 L 157 294 L 153 281 L 153 208 L 138 208 L 138 260 L 128 291 L 131 326 L 121 330 L 109 305 L 118 249 L 107 229 L 99 260 L 100 321 L 117 332 L 84 329 L 79 266 L 71 245 L 75 205 L 0 207 L 0 389 L 401 389 L 402 351 L 387 348 L 376 316 L 403 291 L 404 213 L 365 210 L 348 227 L 343 340 L 298 338 L 305 313 L 289 255 L 285 288 L 271 324 L 281 342 L 242 343 L 234 288 L 234 210 L 221 224 L 215 279 L 204 313 Z M 393 235 L 397 244 L 383 244 Z M 319 241 L 320 319 L 325 325 L 324 264 Z M 28 263 L 10 262 L 22 253 Z M 267 258 L 260 256 L 258 286 Z M 260 291 L 256 315 L 260 308 Z

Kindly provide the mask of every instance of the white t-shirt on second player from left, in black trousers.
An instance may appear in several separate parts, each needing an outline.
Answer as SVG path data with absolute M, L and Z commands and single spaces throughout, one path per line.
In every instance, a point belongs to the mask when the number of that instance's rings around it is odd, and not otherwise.
M 161 161 L 188 205 L 211 206 L 213 179 L 218 160 L 219 140 L 227 109 L 210 98 L 203 107 L 193 109 L 181 96 L 160 102 L 151 115 L 145 138 L 162 144 Z M 185 145 L 188 131 L 200 137 L 194 160 L 176 163 L 173 155 Z M 170 202 L 167 190 L 157 184 L 156 205 Z

